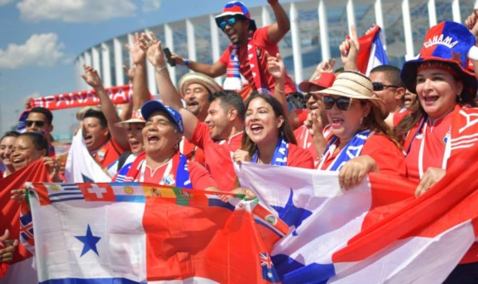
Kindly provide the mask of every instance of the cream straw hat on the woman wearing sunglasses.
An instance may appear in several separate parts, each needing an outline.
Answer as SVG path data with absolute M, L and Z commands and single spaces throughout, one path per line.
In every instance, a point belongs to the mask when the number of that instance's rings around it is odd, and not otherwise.
M 383 119 L 389 115 L 385 102 L 373 93 L 370 79 L 359 72 L 342 72 L 337 76 L 332 87 L 314 93 L 319 95 L 340 95 L 353 99 L 367 99 L 380 112 L 380 116 Z

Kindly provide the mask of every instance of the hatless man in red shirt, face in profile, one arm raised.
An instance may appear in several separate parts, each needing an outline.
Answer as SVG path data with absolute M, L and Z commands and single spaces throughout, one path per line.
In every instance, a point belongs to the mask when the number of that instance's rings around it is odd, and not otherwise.
M 235 188 L 236 174 L 232 154 L 240 148 L 244 128 L 244 103 L 233 91 L 214 93 L 209 101 L 208 116 L 204 122 L 183 108 L 181 97 L 169 76 L 161 43 L 152 34 L 152 39 L 142 37 L 142 46 L 147 49 L 148 60 L 156 69 L 156 81 L 163 103 L 177 110 L 184 123 L 184 137 L 204 150 L 205 166 L 216 180 L 219 189 Z

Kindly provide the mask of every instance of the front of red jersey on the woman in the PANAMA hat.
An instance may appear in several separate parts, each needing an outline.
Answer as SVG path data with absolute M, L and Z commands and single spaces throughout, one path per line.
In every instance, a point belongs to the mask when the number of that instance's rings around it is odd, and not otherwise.
M 445 154 L 445 145 L 447 133 L 450 131 L 452 123 L 452 114 L 450 113 L 444 118 L 436 119 L 431 123 L 428 120 L 422 127 L 422 130 L 416 134 L 412 140 L 410 151 L 405 158 L 407 163 L 407 176 L 414 180 L 420 179 L 419 165 L 421 165 L 422 173 L 425 173 L 429 167 L 442 168 L 443 156 Z M 416 132 L 414 127 L 408 135 L 414 135 Z M 423 145 L 422 145 L 423 144 Z M 420 159 L 420 147 L 423 146 L 423 153 Z M 409 145 L 405 145 L 407 150 Z

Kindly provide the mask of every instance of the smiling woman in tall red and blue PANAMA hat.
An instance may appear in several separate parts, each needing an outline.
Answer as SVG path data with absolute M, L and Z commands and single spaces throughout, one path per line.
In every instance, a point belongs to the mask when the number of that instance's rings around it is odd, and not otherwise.
M 403 65 L 401 78 L 417 94 L 419 109 L 403 118 L 395 133 L 406 137 L 407 175 L 419 180 L 417 197 L 445 175 L 450 157 L 460 155 L 467 165 L 467 153 L 477 145 L 477 77 L 467 69 L 475 45 L 464 25 L 442 22 L 429 29 L 418 57 Z M 445 283 L 478 283 L 476 242 L 460 264 Z

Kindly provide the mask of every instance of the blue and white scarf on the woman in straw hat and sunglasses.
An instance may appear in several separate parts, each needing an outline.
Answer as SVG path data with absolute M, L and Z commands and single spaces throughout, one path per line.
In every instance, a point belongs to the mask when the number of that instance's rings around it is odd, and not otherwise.
M 339 155 L 337 155 L 330 166 L 326 168 L 326 170 L 339 171 L 349 160 L 360 156 L 367 138 L 372 136 L 374 133 L 375 131 L 370 131 L 370 129 L 358 131 L 355 136 L 350 139 L 347 145 L 340 151 Z M 337 147 L 336 142 L 338 139 L 339 138 L 334 135 L 330 142 L 328 142 L 324 153 L 322 154 L 322 158 L 320 159 L 319 169 L 322 168 L 328 157 L 332 156 L 332 154 L 335 152 Z

